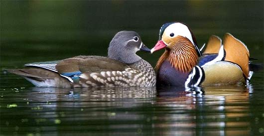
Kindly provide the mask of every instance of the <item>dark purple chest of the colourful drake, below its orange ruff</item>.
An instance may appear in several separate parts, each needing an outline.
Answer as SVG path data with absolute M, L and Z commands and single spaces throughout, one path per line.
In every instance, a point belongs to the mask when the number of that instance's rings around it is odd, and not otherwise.
M 181 72 L 171 66 L 169 61 L 165 60 L 157 73 L 157 85 L 184 86 L 189 72 Z

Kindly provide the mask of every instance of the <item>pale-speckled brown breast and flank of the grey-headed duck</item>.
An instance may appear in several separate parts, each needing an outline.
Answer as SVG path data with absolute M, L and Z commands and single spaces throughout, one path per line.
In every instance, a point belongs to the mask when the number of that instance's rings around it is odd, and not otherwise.
M 109 67 L 113 65 L 116 65 L 116 62 L 109 64 Z M 88 70 L 79 77 L 80 79 L 74 82 L 74 87 L 151 87 L 156 83 L 153 68 L 143 59 L 136 63 L 124 64 L 122 68 L 116 67 L 114 70 Z

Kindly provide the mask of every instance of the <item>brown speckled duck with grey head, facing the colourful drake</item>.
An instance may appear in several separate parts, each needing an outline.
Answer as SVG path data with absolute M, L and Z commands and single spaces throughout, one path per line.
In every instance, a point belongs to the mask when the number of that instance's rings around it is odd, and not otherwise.
M 76 56 L 58 61 L 25 64 L 8 69 L 38 87 L 152 87 L 154 69 L 135 53 L 150 52 L 134 31 L 118 32 L 108 48 L 108 57 Z

